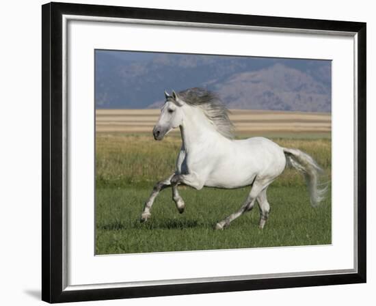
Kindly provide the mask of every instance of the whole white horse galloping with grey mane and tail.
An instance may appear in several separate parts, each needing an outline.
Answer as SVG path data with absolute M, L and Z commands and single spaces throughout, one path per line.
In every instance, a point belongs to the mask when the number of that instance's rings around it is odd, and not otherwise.
M 252 210 L 257 200 L 260 208 L 260 228 L 269 217 L 267 188 L 284 171 L 286 165 L 304 173 L 310 203 L 317 206 L 326 187 L 319 189 L 322 171 L 308 154 L 296 149 L 281 148 L 263 137 L 232 139 L 233 125 L 228 110 L 215 94 L 200 88 L 191 88 L 172 96 L 165 92 L 165 104 L 153 129 L 156 140 L 162 140 L 173 128 L 180 128 L 183 144 L 176 161 L 176 171 L 158 182 L 144 206 L 141 221 L 150 217 L 152 204 L 159 191 L 172 187 L 172 198 L 182 213 L 185 203 L 178 193 L 178 185 L 185 184 L 197 190 L 204 186 L 252 189 L 241 208 L 215 225 L 222 230 L 244 212 Z

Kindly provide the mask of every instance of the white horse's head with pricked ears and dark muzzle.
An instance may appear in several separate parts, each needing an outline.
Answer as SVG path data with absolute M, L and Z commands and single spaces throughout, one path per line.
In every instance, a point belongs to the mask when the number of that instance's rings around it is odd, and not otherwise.
M 165 92 L 165 98 L 165 104 L 161 109 L 159 120 L 152 130 L 155 140 L 162 140 L 170 130 L 177 128 L 183 123 L 183 100 L 174 91 L 172 91 L 172 96 Z

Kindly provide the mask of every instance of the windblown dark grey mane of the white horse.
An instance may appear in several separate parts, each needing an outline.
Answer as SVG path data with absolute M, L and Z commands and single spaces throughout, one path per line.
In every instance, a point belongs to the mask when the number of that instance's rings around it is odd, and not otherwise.
M 200 107 L 213 122 L 217 131 L 228 139 L 234 138 L 234 124 L 228 117 L 228 109 L 219 97 L 203 88 L 189 88 L 178 92 L 178 97 L 193 107 Z

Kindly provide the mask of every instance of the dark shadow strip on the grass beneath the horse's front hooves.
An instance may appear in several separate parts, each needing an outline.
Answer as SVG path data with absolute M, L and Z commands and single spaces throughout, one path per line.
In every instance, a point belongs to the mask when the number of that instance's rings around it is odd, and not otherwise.
M 98 225 L 100 230 L 185 230 L 189 228 L 204 227 L 204 224 L 200 224 L 197 220 L 193 219 L 162 219 L 159 221 L 149 220 L 145 223 L 140 223 L 138 220 L 129 223 L 122 221 L 114 221 L 112 223 Z

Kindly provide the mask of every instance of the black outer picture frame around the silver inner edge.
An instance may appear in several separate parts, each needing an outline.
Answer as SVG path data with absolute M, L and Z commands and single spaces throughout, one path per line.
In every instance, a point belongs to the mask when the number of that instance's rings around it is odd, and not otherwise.
M 184 283 L 174 285 L 140 286 L 69 290 L 63 288 L 63 73 L 62 16 L 104 16 L 139 18 L 219 25 L 247 25 L 268 28 L 324 30 L 334 33 L 352 32 L 357 35 L 358 73 L 357 98 L 358 182 L 358 270 L 356 273 L 303 277 Z M 350 200 L 350 199 L 349 199 Z M 208 292 L 233 292 L 304 286 L 324 286 L 366 282 L 366 23 L 185 12 L 147 8 L 124 8 L 107 5 L 47 3 L 42 5 L 42 300 L 49 303 L 91 301 L 113 298 L 136 298 Z

